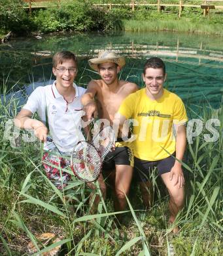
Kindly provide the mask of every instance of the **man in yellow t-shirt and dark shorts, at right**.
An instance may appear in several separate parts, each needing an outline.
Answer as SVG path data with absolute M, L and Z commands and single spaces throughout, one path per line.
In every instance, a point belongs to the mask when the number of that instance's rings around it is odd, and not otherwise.
M 124 99 L 116 119 L 121 126 L 126 119 L 133 121 L 134 169 L 143 202 L 146 207 L 151 204 L 148 177 L 151 169 L 157 167 L 169 192 L 169 223 L 173 223 L 184 203 L 181 161 L 186 147 L 187 116 L 179 96 L 163 88 L 166 76 L 163 61 L 149 58 L 143 70 L 146 87 Z M 177 230 L 176 227 L 173 232 Z

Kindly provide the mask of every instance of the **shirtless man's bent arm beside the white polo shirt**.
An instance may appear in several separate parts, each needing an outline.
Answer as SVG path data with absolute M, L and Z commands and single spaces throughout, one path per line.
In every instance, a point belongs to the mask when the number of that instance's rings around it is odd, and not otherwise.
M 81 98 L 87 120 L 97 116 L 97 105 L 94 100 L 95 95 L 97 95 L 97 88 L 97 82 L 94 80 L 90 81 L 90 83 L 88 83 L 88 89 Z

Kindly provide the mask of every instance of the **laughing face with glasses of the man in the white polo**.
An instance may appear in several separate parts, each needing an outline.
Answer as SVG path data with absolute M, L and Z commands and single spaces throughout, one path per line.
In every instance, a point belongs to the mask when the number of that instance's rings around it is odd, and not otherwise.
M 58 63 L 52 71 L 56 76 L 57 87 L 69 88 L 73 86 L 73 81 L 77 76 L 77 63 L 73 59 L 64 60 L 62 63 Z

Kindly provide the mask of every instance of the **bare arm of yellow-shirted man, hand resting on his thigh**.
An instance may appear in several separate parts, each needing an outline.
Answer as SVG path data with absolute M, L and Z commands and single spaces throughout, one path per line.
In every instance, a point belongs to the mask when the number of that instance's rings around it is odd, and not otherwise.
M 186 129 L 185 125 L 176 125 L 177 129 L 177 138 L 176 138 L 176 158 L 175 164 L 173 165 L 169 179 L 174 181 L 174 186 L 181 188 L 184 186 L 184 174 L 182 172 L 182 161 L 184 157 L 184 152 L 186 148 Z M 180 160 L 180 161 L 178 161 Z

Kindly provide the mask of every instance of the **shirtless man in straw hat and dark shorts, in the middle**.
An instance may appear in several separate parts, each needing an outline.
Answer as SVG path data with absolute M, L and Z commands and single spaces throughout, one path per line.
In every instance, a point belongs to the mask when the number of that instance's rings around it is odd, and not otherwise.
M 90 81 L 86 93 L 82 96 L 87 119 L 98 114 L 100 119 L 107 119 L 112 125 L 114 114 L 118 111 L 122 100 L 137 91 L 138 87 L 135 83 L 118 79 L 118 73 L 126 62 L 124 57 L 117 56 L 114 52 L 101 51 L 98 58 L 89 60 L 89 64 L 99 73 L 101 79 Z M 103 162 L 103 171 L 111 171 L 109 176 L 114 183 L 115 211 L 122 211 L 126 207 L 126 195 L 129 192 L 133 173 L 132 160 L 132 153 L 128 146 L 124 142 L 117 142 L 116 149 L 109 152 Z M 106 186 L 102 175 L 98 181 L 103 198 L 105 198 Z M 95 209 L 97 209 L 99 200 L 99 196 L 95 196 L 93 206 Z

